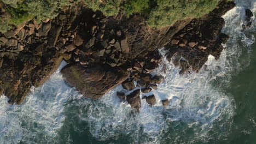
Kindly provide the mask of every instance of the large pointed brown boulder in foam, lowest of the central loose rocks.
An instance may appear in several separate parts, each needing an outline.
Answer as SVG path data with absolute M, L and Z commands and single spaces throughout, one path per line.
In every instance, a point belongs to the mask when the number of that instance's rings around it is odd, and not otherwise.
M 132 108 L 136 109 L 137 112 L 139 112 L 139 109 L 141 108 L 140 94 L 140 90 L 137 89 L 136 91 L 126 96 L 127 103 L 130 104 Z

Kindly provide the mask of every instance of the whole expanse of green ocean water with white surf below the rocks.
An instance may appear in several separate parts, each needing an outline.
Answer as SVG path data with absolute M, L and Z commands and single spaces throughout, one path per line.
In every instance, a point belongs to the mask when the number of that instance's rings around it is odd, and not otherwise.
M 256 0 L 236 4 L 223 16 L 230 39 L 218 61 L 209 56 L 199 73 L 179 75 L 163 59 L 155 73 L 165 82 L 149 93 L 155 106 L 142 100 L 141 112 L 132 113 L 115 94 L 121 86 L 98 100 L 84 98 L 63 81 L 62 62 L 21 105 L 0 97 L 0 144 L 256 143 L 256 23 L 242 31 L 245 9 L 256 14 Z M 162 99 L 170 100 L 166 108 Z

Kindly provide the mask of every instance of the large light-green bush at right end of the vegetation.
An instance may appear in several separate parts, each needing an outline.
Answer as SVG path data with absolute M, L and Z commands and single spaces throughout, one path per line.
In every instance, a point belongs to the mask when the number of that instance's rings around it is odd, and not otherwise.
M 150 12 L 148 24 L 163 27 L 188 17 L 200 17 L 212 11 L 218 2 L 219 0 L 157 0 L 158 6 Z

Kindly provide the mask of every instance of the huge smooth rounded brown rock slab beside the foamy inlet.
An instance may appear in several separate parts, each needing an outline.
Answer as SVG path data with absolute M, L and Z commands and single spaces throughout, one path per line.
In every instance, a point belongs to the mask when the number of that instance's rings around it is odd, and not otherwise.
M 130 73 L 119 68 L 108 68 L 107 65 L 95 65 L 83 68 L 68 64 L 61 70 L 65 81 L 85 97 L 98 99 L 111 89 L 123 83 Z

